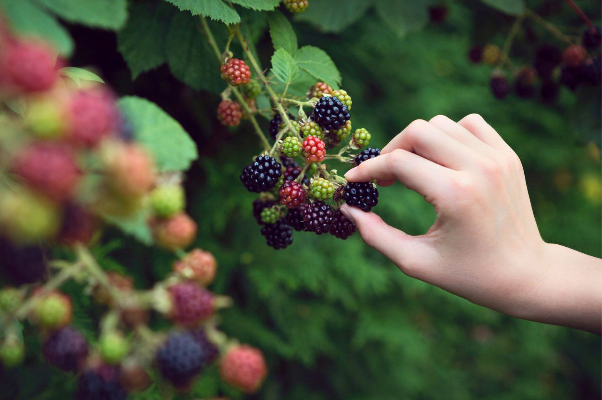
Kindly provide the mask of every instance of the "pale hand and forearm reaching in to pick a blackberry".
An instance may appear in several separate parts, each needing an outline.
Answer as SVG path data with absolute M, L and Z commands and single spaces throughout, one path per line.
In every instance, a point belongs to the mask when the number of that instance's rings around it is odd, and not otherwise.
M 513 317 L 600 335 L 602 260 L 545 243 L 520 159 L 480 115 L 414 121 L 345 177 L 399 181 L 435 207 L 435 223 L 419 236 L 341 207 L 403 273 Z

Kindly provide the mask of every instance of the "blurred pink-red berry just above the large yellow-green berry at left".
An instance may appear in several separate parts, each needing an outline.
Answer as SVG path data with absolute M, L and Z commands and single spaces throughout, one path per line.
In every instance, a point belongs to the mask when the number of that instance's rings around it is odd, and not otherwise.
M 17 154 L 13 172 L 56 201 L 70 198 L 79 180 L 71 151 L 64 145 L 45 142 L 29 145 Z

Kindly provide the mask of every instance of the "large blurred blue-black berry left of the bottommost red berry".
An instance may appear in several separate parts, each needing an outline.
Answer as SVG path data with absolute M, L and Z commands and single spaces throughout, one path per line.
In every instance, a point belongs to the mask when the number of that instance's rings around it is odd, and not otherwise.
M 164 378 L 185 386 L 205 365 L 203 348 L 188 332 L 174 332 L 157 351 L 157 363 Z

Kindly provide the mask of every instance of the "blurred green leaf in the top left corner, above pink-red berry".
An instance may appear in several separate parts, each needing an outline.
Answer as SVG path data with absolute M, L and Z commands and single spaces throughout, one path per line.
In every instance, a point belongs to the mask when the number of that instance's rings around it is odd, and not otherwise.
M 69 57 L 73 52 L 67 30 L 31 0 L 0 0 L 0 8 L 17 33 L 49 41 L 61 56 Z

